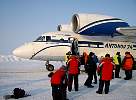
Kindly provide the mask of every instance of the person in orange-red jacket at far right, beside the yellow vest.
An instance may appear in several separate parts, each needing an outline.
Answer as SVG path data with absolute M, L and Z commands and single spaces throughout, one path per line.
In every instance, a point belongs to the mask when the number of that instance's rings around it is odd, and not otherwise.
M 123 69 L 125 70 L 126 77 L 125 80 L 129 80 L 132 78 L 132 68 L 133 68 L 134 58 L 130 54 L 130 52 L 125 52 L 125 57 L 122 61 Z

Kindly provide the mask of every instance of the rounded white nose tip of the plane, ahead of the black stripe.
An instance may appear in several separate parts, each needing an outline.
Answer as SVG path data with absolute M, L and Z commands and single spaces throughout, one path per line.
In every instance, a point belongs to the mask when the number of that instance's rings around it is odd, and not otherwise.
M 13 50 L 13 55 L 25 59 L 30 59 L 33 55 L 32 44 L 25 44 Z

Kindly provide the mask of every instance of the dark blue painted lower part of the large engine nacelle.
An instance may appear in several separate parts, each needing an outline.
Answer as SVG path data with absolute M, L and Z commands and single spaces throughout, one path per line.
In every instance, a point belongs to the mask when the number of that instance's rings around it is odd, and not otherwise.
M 85 26 L 83 29 L 89 27 L 92 24 L 89 24 Z M 118 33 L 118 35 L 121 35 L 119 32 L 116 31 L 116 28 L 118 27 L 128 27 L 128 23 L 126 22 L 107 22 L 102 23 L 98 25 L 94 25 L 92 27 L 89 27 L 85 30 L 80 30 L 79 34 L 82 35 L 89 35 L 89 36 L 111 36 L 114 35 L 114 33 Z

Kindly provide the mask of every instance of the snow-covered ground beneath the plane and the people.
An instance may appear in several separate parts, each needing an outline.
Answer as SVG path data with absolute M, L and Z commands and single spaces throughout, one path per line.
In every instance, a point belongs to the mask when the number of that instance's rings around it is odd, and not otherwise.
M 50 78 L 46 71 L 45 62 L 18 60 L 18 58 L 0 60 L 0 100 L 5 95 L 11 95 L 16 87 L 23 88 L 31 96 L 19 100 L 52 100 Z M 9 57 L 10 58 L 10 57 Z M 60 66 L 61 62 L 53 62 Z M 87 78 L 85 73 L 79 75 L 79 91 L 68 92 L 70 100 L 136 100 L 136 71 L 133 71 L 132 80 L 124 80 L 124 71 L 121 70 L 121 79 L 113 79 L 109 94 L 96 94 L 98 84 L 94 88 L 87 88 L 83 84 Z M 10 99 L 14 100 L 14 99 Z

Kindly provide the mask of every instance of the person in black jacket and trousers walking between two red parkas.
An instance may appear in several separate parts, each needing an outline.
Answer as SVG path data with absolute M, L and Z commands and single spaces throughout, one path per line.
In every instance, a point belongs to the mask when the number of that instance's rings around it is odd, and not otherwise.
M 88 60 L 87 60 L 87 65 L 85 67 L 85 71 L 88 74 L 88 78 L 85 81 L 84 85 L 87 86 L 88 88 L 93 88 L 94 87 L 94 86 L 92 86 L 93 73 L 95 72 L 95 68 L 97 67 L 92 56 L 93 56 L 93 53 L 90 52 Z

